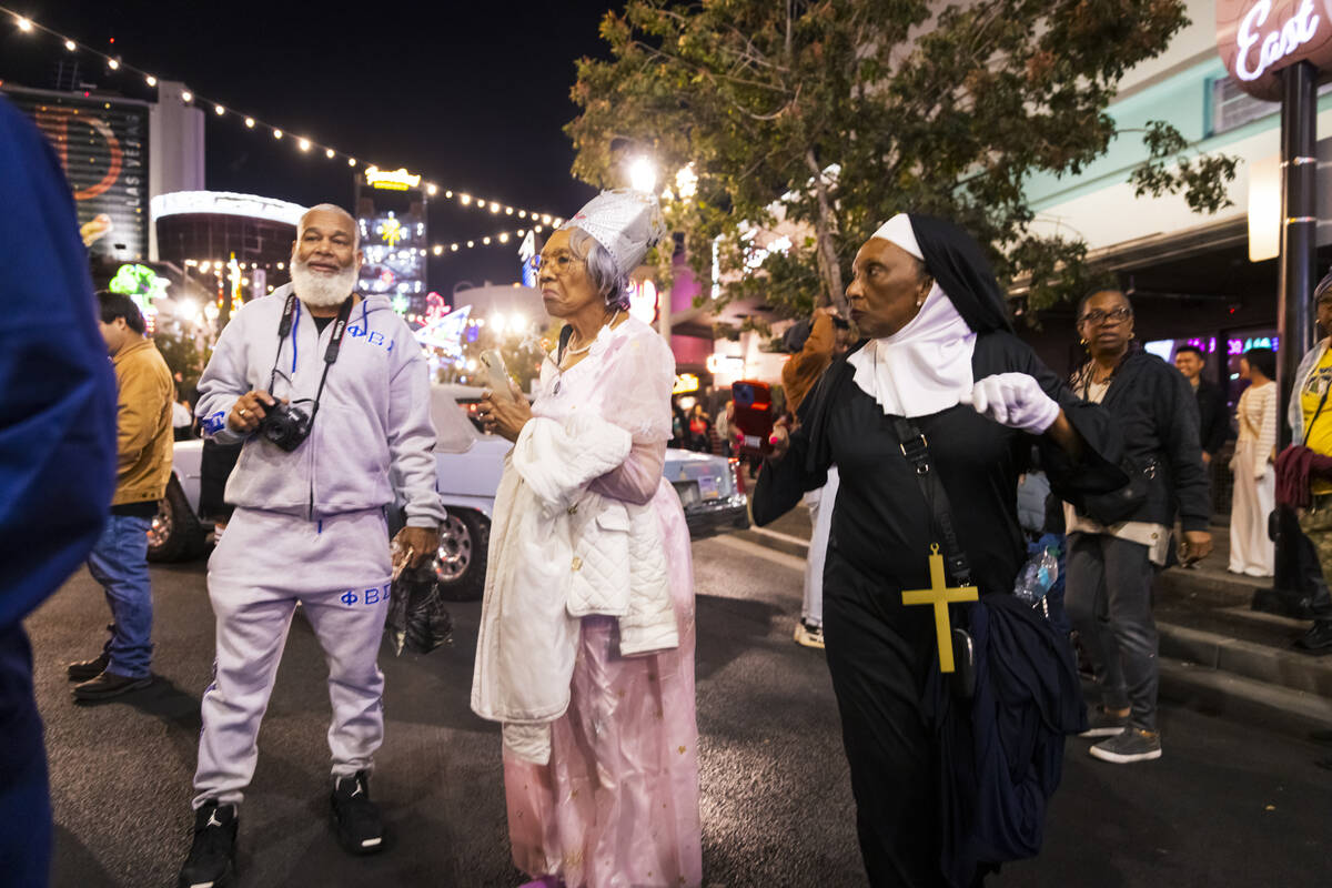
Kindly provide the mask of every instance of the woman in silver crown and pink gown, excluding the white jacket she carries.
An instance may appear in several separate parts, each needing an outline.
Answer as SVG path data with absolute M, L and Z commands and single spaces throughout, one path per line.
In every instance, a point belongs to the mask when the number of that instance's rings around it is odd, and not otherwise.
M 598 213 L 607 197 L 611 212 Z M 646 238 L 635 244 L 643 229 L 622 210 L 623 196 L 603 194 L 542 252 L 546 309 L 573 333 L 543 362 L 530 414 L 521 399 L 482 402 L 484 419 L 510 438 L 529 417 L 587 411 L 630 433 L 629 458 L 591 489 L 655 513 L 679 634 L 678 647 L 622 656 L 617 618 L 583 616 L 549 763 L 505 747 L 513 860 L 534 877 L 530 885 L 551 888 L 702 884 L 693 563 L 679 498 L 662 477 L 675 367 L 665 341 L 623 310 L 623 284 Z

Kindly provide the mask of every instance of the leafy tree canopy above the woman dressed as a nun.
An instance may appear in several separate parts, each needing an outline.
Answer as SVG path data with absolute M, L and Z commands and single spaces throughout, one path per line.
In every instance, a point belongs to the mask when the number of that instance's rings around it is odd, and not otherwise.
M 631 0 L 602 20 L 610 59 L 578 63 L 574 173 L 614 188 L 627 153 L 693 164 L 689 200 L 666 182 L 667 218 L 703 280 L 718 264 L 722 302 L 840 301 L 859 245 L 910 209 L 974 233 L 1039 309 L 1095 272 L 1080 241 L 1032 230 L 1031 174 L 1146 138 L 1139 193 L 1227 205 L 1233 158 L 1189 156 L 1163 121 L 1118 133 L 1107 113 L 1123 73 L 1185 23 L 1181 0 Z M 755 230 L 783 221 L 790 249 L 755 252 Z

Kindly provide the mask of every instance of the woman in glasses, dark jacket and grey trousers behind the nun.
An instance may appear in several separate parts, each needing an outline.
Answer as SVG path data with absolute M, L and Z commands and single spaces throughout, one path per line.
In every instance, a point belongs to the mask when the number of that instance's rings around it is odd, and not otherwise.
M 1084 298 L 1078 332 L 1091 359 L 1074 374 L 1074 391 L 1118 421 L 1130 483 L 1079 510 L 1066 506 L 1066 606 L 1102 692 L 1083 736 L 1107 738 L 1091 754 L 1126 764 L 1162 755 L 1152 579 L 1166 564 L 1176 513 L 1185 562 L 1211 551 L 1211 502 L 1193 391 L 1179 370 L 1130 347 L 1128 298 L 1118 290 Z

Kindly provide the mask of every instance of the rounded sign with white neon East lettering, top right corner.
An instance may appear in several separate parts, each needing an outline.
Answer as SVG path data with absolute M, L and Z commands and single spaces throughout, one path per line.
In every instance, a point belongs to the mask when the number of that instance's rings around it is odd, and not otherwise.
M 1279 101 L 1283 68 L 1332 68 L 1332 0 L 1216 0 L 1216 47 L 1244 92 Z

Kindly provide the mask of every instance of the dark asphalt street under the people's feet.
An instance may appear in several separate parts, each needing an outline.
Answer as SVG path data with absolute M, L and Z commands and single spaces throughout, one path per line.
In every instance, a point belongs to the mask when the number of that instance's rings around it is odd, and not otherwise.
M 864 885 L 823 655 L 791 642 L 801 562 L 725 537 L 695 543 L 694 559 L 705 885 Z M 99 651 L 108 619 L 87 571 L 28 620 L 57 887 L 173 885 L 188 847 L 213 619 L 202 560 L 152 572 L 157 678 L 121 700 L 71 702 L 64 664 Z M 241 885 L 522 881 L 509 863 L 500 734 L 468 708 L 480 604 L 452 611 L 453 647 L 382 654 L 388 727 L 372 795 L 393 835 L 369 859 L 345 856 L 328 827 L 324 659 L 297 616 L 241 809 Z M 1164 758 L 1142 766 L 1096 762 L 1070 740 L 1044 852 L 986 884 L 1332 884 L 1332 772 L 1315 766 L 1332 748 L 1171 700 L 1162 728 Z

